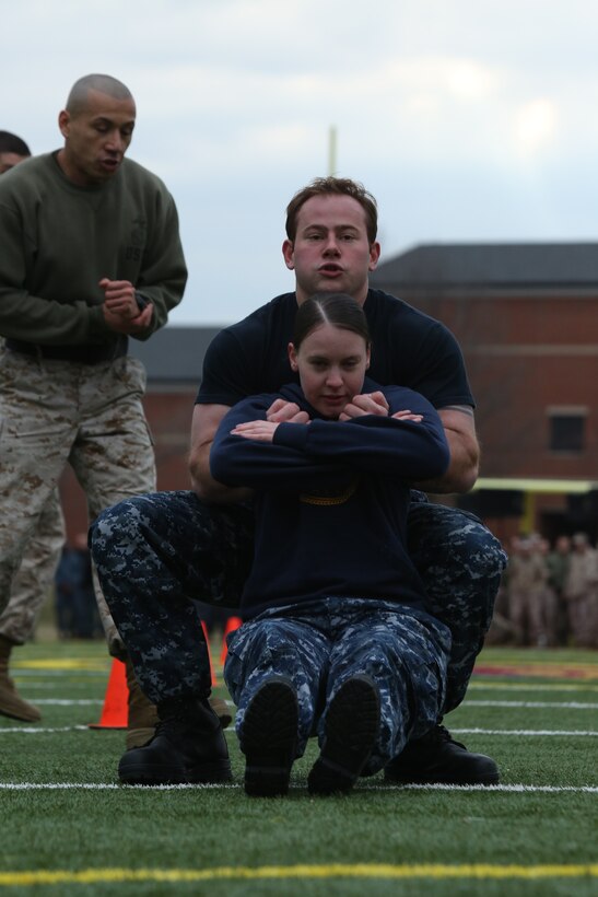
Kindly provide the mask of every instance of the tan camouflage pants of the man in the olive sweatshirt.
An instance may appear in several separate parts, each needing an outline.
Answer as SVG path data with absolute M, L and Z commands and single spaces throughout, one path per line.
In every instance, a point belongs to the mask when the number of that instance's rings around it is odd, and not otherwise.
M 137 359 L 101 364 L 0 353 L 0 611 L 58 479 L 70 464 L 90 520 L 125 498 L 155 490 Z M 110 653 L 121 642 L 96 583 Z M 9 607 L 9 615 L 11 608 Z

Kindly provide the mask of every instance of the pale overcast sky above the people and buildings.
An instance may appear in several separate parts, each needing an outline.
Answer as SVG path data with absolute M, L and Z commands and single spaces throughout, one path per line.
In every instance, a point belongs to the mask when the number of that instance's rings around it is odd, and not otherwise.
M 329 173 L 376 196 L 383 260 L 435 242 L 598 236 L 595 0 L 0 0 L 0 129 L 60 145 L 90 72 L 132 91 L 129 155 L 175 197 L 171 323 L 293 289 L 284 209 Z

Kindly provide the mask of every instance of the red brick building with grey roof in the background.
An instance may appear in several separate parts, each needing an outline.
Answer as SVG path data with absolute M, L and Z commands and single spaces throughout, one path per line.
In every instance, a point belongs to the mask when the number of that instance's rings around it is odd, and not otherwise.
M 459 504 L 505 539 L 579 528 L 596 539 L 598 243 L 422 245 L 380 264 L 372 286 L 443 321 L 464 349 L 482 470 Z M 160 489 L 188 488 L 194 398 L 218 330 L 167 327 L 131 340 L 148 369 Z M 85 508 L 70 471 L 61 491 L 72 534 Z

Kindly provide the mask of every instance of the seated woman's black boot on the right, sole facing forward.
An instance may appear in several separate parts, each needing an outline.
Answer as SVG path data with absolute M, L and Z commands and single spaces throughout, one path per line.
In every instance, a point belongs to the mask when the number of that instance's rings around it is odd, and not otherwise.
M 368 676 L 353 676 L 332 698 L 320 756 L 307 779 L 310 794 L 351 791 L 376 743 L 380 724 L 378 689 Z

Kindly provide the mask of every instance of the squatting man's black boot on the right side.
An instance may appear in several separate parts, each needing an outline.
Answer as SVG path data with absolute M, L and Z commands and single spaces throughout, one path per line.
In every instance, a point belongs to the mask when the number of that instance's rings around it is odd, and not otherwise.
M 418 784 L 496 784 L 499 767 L 485 754 L 471 754 L 453 739 L 444 725 L 435 725 L 421 738 L 409 742 L 390 760 L 384 777 L 391 782 Z

